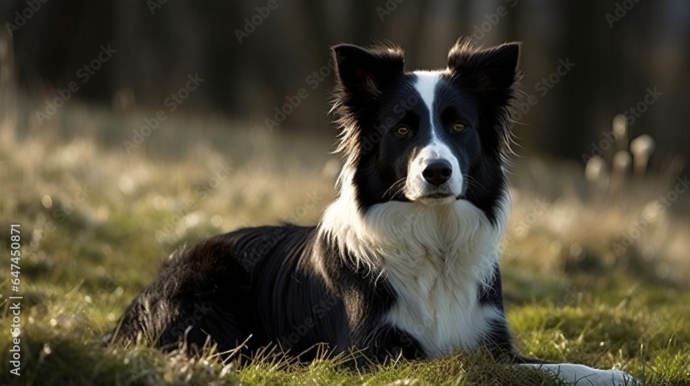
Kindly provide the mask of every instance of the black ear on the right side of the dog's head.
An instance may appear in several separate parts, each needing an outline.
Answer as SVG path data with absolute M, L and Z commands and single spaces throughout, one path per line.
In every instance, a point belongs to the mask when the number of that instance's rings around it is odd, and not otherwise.
M 515 82 L 519 59 L 520 43 L 479 49 L 469 41 L 457 41 L 448 53 L 448 68 L 480 90 L 505 90 Z

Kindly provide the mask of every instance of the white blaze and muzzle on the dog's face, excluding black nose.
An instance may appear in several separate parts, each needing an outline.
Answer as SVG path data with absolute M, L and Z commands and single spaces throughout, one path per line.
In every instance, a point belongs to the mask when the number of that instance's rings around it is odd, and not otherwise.
M 431 141 L 427 143 L 422 150 L 412 160 L 405 181 L 405 196 L 408 199 L 415 201 L 430 194 L 448 194 L 449 196 L 459 196 L 462 194 L 462 171 L 460 164 L 457 162 L 457 157 L 451 151 L 442 139 L 439 138 L 438 132 L 442 128 L 437 128 L 435 118 L 437 112 L 434 111 L 433 101 L 435 97 L 436 85 L 441 78 L 439 71 L 415 71 L 417 75 L 417 83 L 415 83 L 415 90 L 422 96 L 422 101 L 426 105 L 429 112 L 429 128 L 431 130 Z M 451 178 L 440 186 L 432 185 L 424 179 L 424 169 L 433 161 L 447 161 L 451 164 Z M 453 197 L 449 197 L 450 201 L 454 201 Z M 449 201 L 449 199 L 442 199 L 440 201 Z M 433 200 L 437 201 L 437 200 Z

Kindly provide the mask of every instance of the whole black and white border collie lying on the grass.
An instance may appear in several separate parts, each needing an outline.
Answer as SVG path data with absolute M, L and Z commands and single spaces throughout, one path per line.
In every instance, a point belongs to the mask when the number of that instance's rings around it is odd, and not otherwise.
M 175 252 L 114 341 L 228 352 L 315 345 L 385 360 L 491 350 L 578 385 L 624 372 L 521 356 L 502 302 L 504 167 L 520 101 L 520 45 L 458 41 L 448 67 L 405 72 L 402 50 L 336 45 L 339 196 L 315 227 L 252 227 Z

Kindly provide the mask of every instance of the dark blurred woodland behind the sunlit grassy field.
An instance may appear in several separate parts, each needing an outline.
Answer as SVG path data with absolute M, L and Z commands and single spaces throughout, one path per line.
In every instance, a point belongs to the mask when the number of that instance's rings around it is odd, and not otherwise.
M 23 96 L 52 99 L 110 45 L 117 52 L 68 103 L 155 111 L 189 74 L 199 74 L 203 85 L 181 105 L 189 114 L 266 128 L 286 96 L 305 88 L 308 97 L 273 130 L 327 136 L 334 132 L 326 118 L 333 76 L 324 66 L 334 43 L 393 41 L 413 70 L 443 67 L 460 35 L 486 45 L 522 41 L 524 87 L 538 103 L 515 129 L 520 152 L 583 165 L 613 116 L 644 101 L 648 90 L 661 95 L 635 117 L 629 137 L 651 134 L 660 163 L 690 155 L 689 20 L 687 0 L 0 2 L 0 34 L 14 45 Z M 544 88 L 542 79 L 561 61 L 574 66 Z M 319 71 L 324 81 L 308 78 Z

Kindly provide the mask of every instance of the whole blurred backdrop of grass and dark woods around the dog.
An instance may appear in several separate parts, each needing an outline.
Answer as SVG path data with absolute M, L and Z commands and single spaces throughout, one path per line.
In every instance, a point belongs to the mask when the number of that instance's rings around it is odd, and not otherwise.
M 688 1 L 3 0 L 0 22 L 0 250 L 21 223 L 29 377 L 196 371 L 94 347 L 179 245 L 317 221 L 340 165 L 330 45 L 391 41 L 415 70 L 471 35 L 523 42 L 502 245 L 521 347 L 690 379 Z

